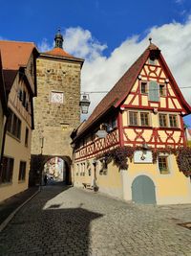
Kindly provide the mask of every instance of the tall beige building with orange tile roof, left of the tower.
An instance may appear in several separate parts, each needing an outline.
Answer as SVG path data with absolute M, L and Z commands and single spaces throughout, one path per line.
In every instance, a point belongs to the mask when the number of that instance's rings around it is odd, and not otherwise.
M 0 175 L 0 201 L 28 188 L 36 96 L 36 57 L 31 42 L 0 41 L 9 116 Z

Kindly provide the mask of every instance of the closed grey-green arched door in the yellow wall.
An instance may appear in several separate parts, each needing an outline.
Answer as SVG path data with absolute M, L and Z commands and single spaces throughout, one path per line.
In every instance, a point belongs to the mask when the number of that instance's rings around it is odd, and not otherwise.
M 132 183 L 132 200 L 137 203 L 156 204 L 155 184 L 147 175 L 138 175 Z

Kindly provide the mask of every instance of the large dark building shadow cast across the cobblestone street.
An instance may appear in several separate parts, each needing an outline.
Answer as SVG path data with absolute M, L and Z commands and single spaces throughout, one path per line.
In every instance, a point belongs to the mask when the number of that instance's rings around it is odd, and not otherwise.
M 103 215 L 83 208 L 70 199 L 66 205 L 54 198 L 70 186 L 44 187 L 0 234 L 0 255 L 90 255 L 90 225 Z M 76 202 L 76 201 L 75 201 Z M 13 243 L 12 243 L 13 241 Z

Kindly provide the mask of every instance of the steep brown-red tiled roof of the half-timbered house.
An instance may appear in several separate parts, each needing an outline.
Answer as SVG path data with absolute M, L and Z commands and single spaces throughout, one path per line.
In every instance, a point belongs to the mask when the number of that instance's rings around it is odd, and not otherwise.
M 146 62 L 147 58 L 152 55 L 158 56 L 162 59 L 166 72 L 167 74 L 169 74 L 169 79 L 173 82 L 173 84 L 175 84 L 175 89 L 178 92 L 182 105 L 188 112 L 191 112 L 191 107 L 185 102 L 180 92 L 179 86 L 173 78 L 173 75 L 170 72 L 164 58 L 162 57 L 158 46 L 150 43 L 150 45 L 146 48 L 142 55 L 139 56 L 134 64 L 117 81 L 111 91 L 108 92 L 108 94 L 100 101 L 98 105 L 96 105 L 96 108 L 94 109 L 89 119 L 82 127 L 78 129 L 76 137 L 80 136 L 88 128 L 91 128 L 92 125 L 95 124 L 96 121 L 98 121 L 109 109 L 111 109 L 112 107 L 116 108 L 126 99 L 135 81 L 137 80 L 144 63 Z

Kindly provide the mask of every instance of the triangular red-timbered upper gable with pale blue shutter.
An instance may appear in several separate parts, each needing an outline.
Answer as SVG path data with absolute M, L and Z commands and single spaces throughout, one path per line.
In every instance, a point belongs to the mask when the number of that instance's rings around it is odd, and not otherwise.
M 163 59 L 147 58 L 123 105 L 126 107 L 157 107 L 186 112 L 178 85 L 168 73 Z

